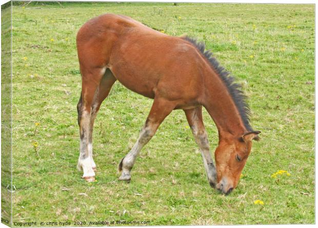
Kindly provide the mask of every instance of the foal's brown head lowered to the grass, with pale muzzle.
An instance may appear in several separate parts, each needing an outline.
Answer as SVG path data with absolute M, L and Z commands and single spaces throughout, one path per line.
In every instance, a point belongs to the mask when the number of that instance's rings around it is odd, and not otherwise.
M 229 194 L 236 187 L 251 152 L 252 140 L 258 140 L 259 133 L 259 131 L 249 132 L 234 140 L 220 141 L 215 150 L 216 189 L 223 194 Z

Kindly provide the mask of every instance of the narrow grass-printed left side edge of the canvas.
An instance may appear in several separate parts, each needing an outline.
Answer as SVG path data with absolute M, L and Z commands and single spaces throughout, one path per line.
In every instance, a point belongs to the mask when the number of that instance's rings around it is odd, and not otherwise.
M 11 220 L 11 7 L 1 9 L 1 218 Z

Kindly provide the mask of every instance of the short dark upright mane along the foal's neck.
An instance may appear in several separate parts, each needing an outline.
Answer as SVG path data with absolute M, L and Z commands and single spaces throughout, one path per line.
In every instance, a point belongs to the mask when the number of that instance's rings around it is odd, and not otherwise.
M 252 132 L 253 130 L 250 126 L 251 111 L 246 102 L 246 95 L 242 91 L 242 86 L 235 82 L 235 78 L 230 74 L 230 72 L 226 71 L 224 67 L 220 66 L 216 58 L 213 57 L 213 53 L 210 50 L 205 50 L 204 42 L 198 42 L 196 39 L 188 36 L 183 38 L 193 44 L 209 61 L 210 66 L 216 71 L 218 76 L 220 76 L 229 93 L 231 94 L 231 97 L 236 105 L 238 112 L 241 115 L 246 130 Z

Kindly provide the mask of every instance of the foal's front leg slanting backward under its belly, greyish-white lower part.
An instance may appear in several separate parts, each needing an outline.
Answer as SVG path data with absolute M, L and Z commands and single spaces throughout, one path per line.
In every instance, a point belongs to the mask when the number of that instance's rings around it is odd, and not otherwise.
M 122 171 L 120 180 L 131 179 L 130 171 L 135 163 L 136 157 L 141 149 L 147 144 L 158 129 L 160 123 L 167 115 L 175 108 L 175 103 L 161 98 L 155 98 L 146 120 L 144 127 L 141 130 L 138 140 L 134 144 L 130 152 L 122 159 L 119 170 Z

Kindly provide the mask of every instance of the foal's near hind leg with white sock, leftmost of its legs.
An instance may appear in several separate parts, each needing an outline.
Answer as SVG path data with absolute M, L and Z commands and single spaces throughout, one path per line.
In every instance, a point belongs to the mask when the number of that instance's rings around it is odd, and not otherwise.
M 78 125 L 81 136 L 80 153 L 77 168 L 83 170 L 83 178 L 87 181 L 95 180 L 93 162 L 91 159 L 91 134 L 92 123 L 101 103 L 100 86 L 106 68 L 87 68 L 81 65 L 82 93 L 77 104 Z M 111 86 L 110 86 L 111 87 Z M 104 90 L 102 90 L 104 91 Z M 109 92 L 109 91 L 108 91 Z

